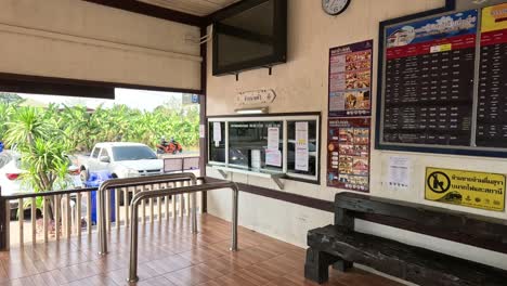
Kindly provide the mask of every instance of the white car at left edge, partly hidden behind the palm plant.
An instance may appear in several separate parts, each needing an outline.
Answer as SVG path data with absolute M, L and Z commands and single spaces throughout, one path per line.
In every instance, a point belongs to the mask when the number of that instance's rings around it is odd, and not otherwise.
M 68 159 L 68 157 L 67 157 Z M 21 155 L 17 152 L 6 151 L 0 154 L 0 187 L 2 196 L 30 193 L 34 190 L 23 180 L 27 171 L 23 168 Z M 55 190 L 82 187 L 79 177 L 79 167 L 68 159 L 68 174 L 63 181 L 54 183 Z M 17 211 L 17 200 L 10 202 L 11 216 L 14 218 Z

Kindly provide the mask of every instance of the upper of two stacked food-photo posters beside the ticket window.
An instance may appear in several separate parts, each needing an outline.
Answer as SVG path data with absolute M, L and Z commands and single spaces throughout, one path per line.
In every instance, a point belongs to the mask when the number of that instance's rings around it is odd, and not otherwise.
M 372 115 L 373 40 L 329 50 L 329 116 Z

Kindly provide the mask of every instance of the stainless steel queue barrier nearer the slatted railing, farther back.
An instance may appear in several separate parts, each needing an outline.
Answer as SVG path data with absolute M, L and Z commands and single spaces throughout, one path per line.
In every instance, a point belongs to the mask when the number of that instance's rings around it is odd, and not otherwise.
M 192 185 L 195 185 L 197 182 L 197 178 L 194 173 L 184 172 L 184 173 L 169 173 L 169 174 L 160 174 L 160 176 L 150 176 L 150 177 L 134 177 L 134 178 L 125 178 L 125 179 L 110 179 L 105 181 L 101 184 L 98 191 L 98 222 L 99 222 L 99 243 L 100 243 L 100 255 L 107 253 L 107 218 L 106 218 L 106 192 L 113 187 L 129 187 L 129 186 L 139 186 L 139 185 L 146 185 L 146 184 L 159 184 L 159 183 L 167 183 L 173 182 L 174 180 L 183 180 L 187 179 L 192 182 Z M 151 191 L 146 191 L 151 192 Z M 143 192 L 139 193 L 142 194 Z M 172 194 L 172 193 L 171 193 Z M 128 196 L 127 196 L 128 197 Z M 197 211 L 195 207 L 195 193 L 192 195 L 192 232 L 197 232 Z M 125 202 L 128 204 L 128 202 Z M 133 211 L 132 211 L 133 212 Z M 131 223 L 133 224 L 138 218 L 133 219 Z

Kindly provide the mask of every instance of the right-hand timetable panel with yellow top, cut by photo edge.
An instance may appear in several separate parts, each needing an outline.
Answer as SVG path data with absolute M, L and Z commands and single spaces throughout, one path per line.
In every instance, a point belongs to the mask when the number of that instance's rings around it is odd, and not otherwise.
M 507 148 L 507 3 L 484 8 L 477 106 L 478 146 Z

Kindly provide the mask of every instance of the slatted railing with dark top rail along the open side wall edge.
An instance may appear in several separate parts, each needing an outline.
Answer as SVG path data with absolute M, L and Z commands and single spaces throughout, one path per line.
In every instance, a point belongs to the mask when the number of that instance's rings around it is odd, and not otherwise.
M 98 226 L 102 225 L 106 226 L 106 230 L 110 230 L 112 225 L 112 209 L 115 209 L 115 226 L 120 227 L 121 222 L 123 222 L 125 226 L 129 225 L 129 194 L 135 195 L 140 192 L 145 192 L 150 190 L 158 190 L 158 188 L 172 188 L 172 187 L 180 187 L 190 184 L 196 184 L 197 181 L 202 181 L 202 179 L 197 179 L 193 173 L 176 173 L 176 174 L 161 174 L 161 176 L 152 176 L 152 177 L 138 177 L 138 178 L 129 178 L 129 179 L 113 179 L 106 181 L 101 185 L 100 190 L 105 191 L 98 191 L 98 187 L 86 187 L 86 188 L 74 188 L 74 190 L 63 190 L 63 191 L 50 191 L 50 192 L 40 192 L 40 193 L 26 193 L 26 194 L 16 194 L 16 195 L 9 195 L 2 196 L 1 188 L 0 188 L 0 251 L 9 250 L 11 246 L 11 202 L 17 203 L 18 207 L 23 211 L 18 211 L 18 242 L 20 246 L 25 245 L 25 211 L 24 211 L 24 204 L 25 202 L 30 203 L 30 218 L 31 218 L 31 243 L 36 244 L 37 238 L 43 236 L 43 242 L 48 243 L 50 240 L 50 234 L 56 240 L 65 237 L 69 239 L 73 235 L 81 237 L 83 230 L 86 230 L 88 236 L 92 235 L 93 232 L 93 223 L 92 223 L 92 208 L 95 206 L 92 204 L 92 193 L 96 192 L 96 223 Z M 112 196 L 105 196 L 107 191 L 112 192 L 114 190 L 114 197 L 115 204 L 110 202 L 109 198 Z M 120 213 L 120 197 L 121 193 L 123 195 L 123 218 L 121 218 Z M 101 202 L 101 194 L 102 202 Z M 40 206 L 38 206 L 38 202 Z M 170 214 L 176 218 L 178 216 L 182 217 L 184 212 L 190 213 L 190 198 L 184 198 L 183 195 L 170 198 L 170 196 L 166 196 L 165 198 L 158 197 L 157 200 L 157 219 L 161 221 L 162 219 L 162 200 L 165 200 L 165 217 L 169 220 Z M 177 202 L 179 200 L 179 202 Z M 192 200 L 194 202 L 192 206 L 195 206 L 195 194 L 193 195 Z M 169 203 L 171 202 L 171 208 L 169 207 Z M 104 203 L 104 204 L 103 204 Z M 148 208 L 150 208 L 150 221 L 154 222 L 155 213 L 154 207 L 155 202 L 150 199 Z M 81 204 L 84 205 L 86 211 L 86 226 L 81 225 Z M 178 205 L 177 205 L 178 204 Z M 186 205 L 186 206 L 185 206 Z M 143 213 L 141 217 L 141 221 L 146 223 L 146 207 L 145 202 L 142 202 L 143 206 Z M 40 209 L 40 212 L 38 212 Z M 196 207 L 193 207 L 194 210 L 197 210 Z M 51 212 L 51 216 L 50 216 Z M 192 212 L 193 213 L 193 212 Z M 42 220 L 42 225 L 38 225 L 38 216 Z M 50 220 L 52 217 L 52 220 Z M 121 220 L 122 219 L 122 220 Z M 139 218 L 138 218 L 139 219 Z M 196 216 L 193 218 L 193 222 L 196 221 Z M 39 220 L 40 222 L 40 220 Z M 30 226 L 28 226 L 30 227 Z M 104 235 L 99 234 L 101 240 L 106 238 L 106 232 L 104 229 L 99 229 L 99 232 L 103 232 Z M 42 235 L 38 235 L 38 232 L 42 231 Z M 53 234 L 51 233 L 53 232 Z M 15 235 L 15 234 L 14 234 Z M 101 245 L 101 252 L 103 249 L 107 249 L 107 245 L 104 244 L 105 248 L 102 248 Z M 105 252 L 105 251 L 104 251 Z

